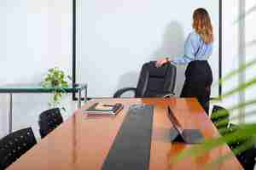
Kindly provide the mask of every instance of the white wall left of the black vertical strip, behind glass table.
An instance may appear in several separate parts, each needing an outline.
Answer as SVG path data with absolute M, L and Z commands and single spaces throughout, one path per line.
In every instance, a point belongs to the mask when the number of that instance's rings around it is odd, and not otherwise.
M 42 82 L 54 66 L 72 75 L 72 5 L 71 0 L 0 1 L 0 85 Z M 32 126 L 38 136 L 38 114 L 48 101 L 49 94 L 15 94 L 14 130 Z M 8 133 L 8 102 L 9 96 L 0 94 L 0 138 Z M 73 105 L 67 109 L 69 114 Z

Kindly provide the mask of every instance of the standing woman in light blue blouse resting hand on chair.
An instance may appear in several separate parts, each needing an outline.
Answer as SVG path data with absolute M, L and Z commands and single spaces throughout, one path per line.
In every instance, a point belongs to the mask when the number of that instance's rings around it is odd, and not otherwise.
M 184 55 L 174 59 L 158 59 L 156 66 L 171 62 L 174 65 L 189 64 L 185 72 L 181 97 L 195 97 L 205 111 L 209 112 L 212 70 L 207 59 L 212 55 L 213 31 L 210 16 L 205 8 L 198 8 L 193 14 L 193 28 L 185 42 Z

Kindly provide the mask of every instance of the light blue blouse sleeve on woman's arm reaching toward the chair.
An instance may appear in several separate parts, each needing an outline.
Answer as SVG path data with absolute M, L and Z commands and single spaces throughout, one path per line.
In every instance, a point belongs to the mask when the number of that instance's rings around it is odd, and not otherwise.
M 200 39 L 195 35 L 195 33 L 190 33 L 185 42 L 184 54 L 180 57 L 171 59 L 171 63 L 174 65 L 186 65 L 190 61 L 195 60 L 195 55 L 200 47 L 199 40 Z

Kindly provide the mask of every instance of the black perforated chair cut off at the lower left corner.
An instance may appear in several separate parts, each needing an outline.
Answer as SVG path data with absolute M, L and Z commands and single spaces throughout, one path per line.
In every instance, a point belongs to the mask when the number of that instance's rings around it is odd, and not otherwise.
M 0 170 L 9 167 L 35 144 L 37 144 L 37 141 L 31 127 L 5 136 L 0 140 Z

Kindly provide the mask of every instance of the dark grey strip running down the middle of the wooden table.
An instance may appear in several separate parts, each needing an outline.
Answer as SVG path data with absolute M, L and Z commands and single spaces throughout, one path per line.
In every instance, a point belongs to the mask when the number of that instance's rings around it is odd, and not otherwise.
M 150 105 L 129 108 L 102 170 L 148 169 L 153 115 L 154 107 Z

